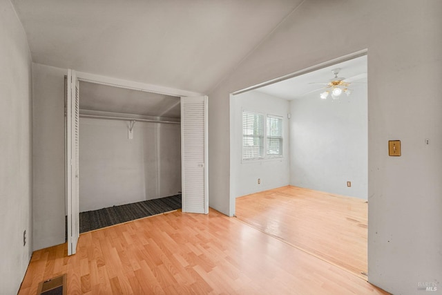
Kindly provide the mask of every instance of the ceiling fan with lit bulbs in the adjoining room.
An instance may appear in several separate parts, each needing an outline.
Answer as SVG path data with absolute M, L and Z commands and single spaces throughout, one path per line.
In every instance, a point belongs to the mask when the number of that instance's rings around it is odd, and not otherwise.
M 333 99 L 338 99 L 340 97 L 340 95 L 342 95 L 343 93 L 345 93 L 347 96 L 349 96 L 350 94 L 352 94 L 352 89 L 349 88 L 350 84 L 355 83 L 354 81 L 356 81 L 358 79 L 363 79 L 363 78 L 367 77 L 366 73 L 356 75 L 354 77 L 347 78 L 347 79 L 343 78 L 343 77 L 338 77 L 340 70 L 341 70 L 340 68 L 334 68 L 332 70 L 334 78 L 330 79 L 329 82 L 327 82 L 327 83 L 310 83 L 310 84 L 325 85 L 324 88 L 310 91 L 310 93 L 324 89 L 325 91 L 323 91 L 323 93 L 320 93 L 321 99 L 326 99 L 329 95 L 332 95 Z

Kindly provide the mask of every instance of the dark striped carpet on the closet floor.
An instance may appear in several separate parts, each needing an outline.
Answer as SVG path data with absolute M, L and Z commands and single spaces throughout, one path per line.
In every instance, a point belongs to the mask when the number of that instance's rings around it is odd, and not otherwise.
M 181 194 L 178 194 L 166 198 L 80 212 L 80 234 L 180 208 Z

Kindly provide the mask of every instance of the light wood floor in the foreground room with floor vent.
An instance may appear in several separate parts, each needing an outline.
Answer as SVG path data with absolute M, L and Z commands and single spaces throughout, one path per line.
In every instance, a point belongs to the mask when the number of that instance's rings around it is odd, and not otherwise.
M 68 294 L 385 294 L 218 211 L 175 211 L 35 251 L 19 294 L 68 274 Z

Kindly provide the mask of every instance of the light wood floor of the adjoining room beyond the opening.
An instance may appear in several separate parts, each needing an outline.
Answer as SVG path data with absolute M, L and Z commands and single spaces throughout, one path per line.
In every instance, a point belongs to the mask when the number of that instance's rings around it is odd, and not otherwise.
M 365 200 L 291 186 L 236 199 L 238 219 L 365 279 L 367 213 Z

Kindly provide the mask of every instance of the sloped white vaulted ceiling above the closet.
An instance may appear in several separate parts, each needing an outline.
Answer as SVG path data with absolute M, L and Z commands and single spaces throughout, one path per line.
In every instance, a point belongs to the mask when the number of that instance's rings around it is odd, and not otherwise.
M 12 0 L 32 61 L 208 93 L 302 0 Z

